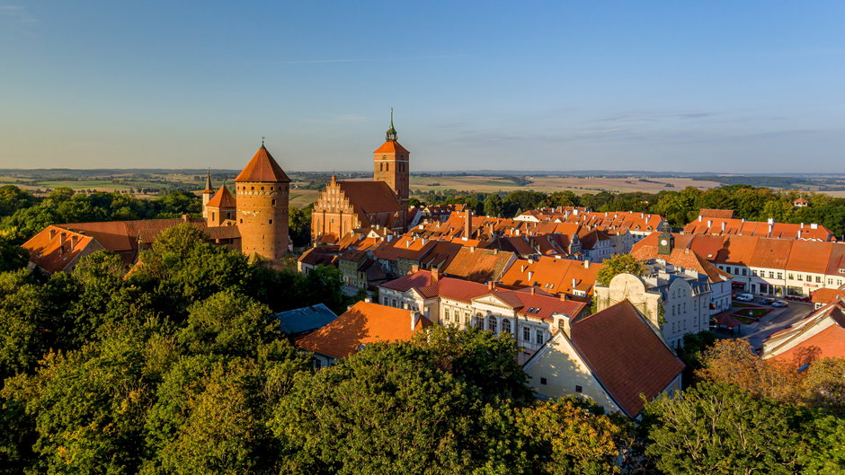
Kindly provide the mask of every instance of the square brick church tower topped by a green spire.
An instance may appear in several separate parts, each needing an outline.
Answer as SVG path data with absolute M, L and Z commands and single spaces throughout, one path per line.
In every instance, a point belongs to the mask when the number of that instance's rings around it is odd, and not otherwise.
M 373 180 L 384 181 L 399 199 L 400 218 L 403 229 L 407 226 L 408 194 L 411 184 L 411 153 L 396 141 L 393 127 L 393 110 L 390 110 L 390 128 L 387 129 L 384 145 L 373 152 Z

